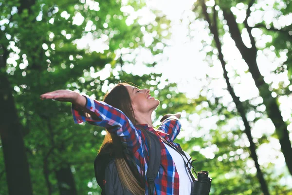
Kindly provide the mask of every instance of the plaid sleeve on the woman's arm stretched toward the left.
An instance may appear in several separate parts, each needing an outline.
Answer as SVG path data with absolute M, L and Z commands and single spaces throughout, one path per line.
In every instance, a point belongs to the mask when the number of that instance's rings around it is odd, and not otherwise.
M 133 151 L 140 147 L 141 132 L 137 131 L 129 118 L 119 109 L 116 109 L 104 101 L 97 101 L 84 96 L 87 99 L 86 108 L 95 116 L 90 116 L 81 108 L 72 104 L 72 114 L 75 123 L 87 121 L 92 125 L 105 127 L 110 133 L 121 137 L 122 142 Z

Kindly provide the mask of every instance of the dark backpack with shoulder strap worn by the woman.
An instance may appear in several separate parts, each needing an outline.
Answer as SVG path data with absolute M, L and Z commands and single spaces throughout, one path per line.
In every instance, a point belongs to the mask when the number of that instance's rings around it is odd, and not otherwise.
M 148 193 L 149 195 L 152 195 L 154 190 L 154 179 L 158 174 L 160 166 L 161 147 L 160 141 L 154 133 L 150 131 L 146 131 L 146 133 L 151 143 L 146 178 L 148 183 Z M 112 145 L 109 144 L 107 147 L 112 147 Z M 127 151 L 125 151 L 125 153 L 127 153 Z M 98 154 L 96 156 L 94 160 L 94 173 L 96 181 L 102 189 L 101 195 L 133 195 L 128 189 L 123 187 L 117 172 L 114 158 L 110 156 L 109 153 Z M 140 176 L 137 171 L 136 173 L 133 171 L 133 174 L 137 179 Z

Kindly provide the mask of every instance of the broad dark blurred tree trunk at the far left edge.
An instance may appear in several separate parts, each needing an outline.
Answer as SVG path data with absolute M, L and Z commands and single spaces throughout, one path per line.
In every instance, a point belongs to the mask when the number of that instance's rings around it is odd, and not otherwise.
M 0 45 L 0 137 L 2 142 L 9 195 L 32 195 L 29 164 L 25 153 L 22 127 L 18 119 L 12 88 L 7 78 L 8 52 Z

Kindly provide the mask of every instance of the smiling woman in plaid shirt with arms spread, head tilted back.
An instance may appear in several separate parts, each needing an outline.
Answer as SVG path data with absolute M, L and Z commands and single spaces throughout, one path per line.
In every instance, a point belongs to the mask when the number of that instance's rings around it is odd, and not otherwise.
M 165 115 L 162 124 L 154 129 L 151 114 L 160 102 L 150 96 L 148 89 L 138 89 L 120 83 L 105 96 L 104 101 L 97 101 L 69 90 L 56 90 L 42 94 L 40 98 L 72 102 L 75 123 L 87 121 L 92 125 L 105 127 L 109 133 L 103 141 L 101 151 L 108 142 L 113 142 L 116 150 L 126 148 L 132 156 L 131 162 L 137 168 L 137 173 L 145 180 L 149 155 L 148 139 L 144 132 L 151 131 L 160 140 L 162 155 L 153 193 L 190 195 L 192 178 L 185 167 L 185 162 L 189 161 L 190 156 L 185 152 L 185 156 L 179 154 L 176 148 L 181 150 L 181 147 L 173 142 L 181 130 L 178 120 L 180 114 Z M 165 140 L 168 144 L 165 144 Z M 115 162 L 122 184 L 132 194 L 148 195 L 148 188 L 145 187 L 147 182 L 142 185 L 144 188 L 139 185 L 139 181 L 128 167 L 131 162 L 117 158 Z

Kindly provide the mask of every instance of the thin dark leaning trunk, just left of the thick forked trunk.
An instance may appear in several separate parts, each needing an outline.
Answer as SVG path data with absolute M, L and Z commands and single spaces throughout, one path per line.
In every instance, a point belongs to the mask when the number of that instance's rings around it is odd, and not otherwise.
M 211 33 L 214 35 L 214 41 L 216 43 L 216 47 L 217 47 L 218 53 L 219 53 L 218 58 L 219 58 L 221 65 L 222 65 L 223 75 L 224 75 L 224 78 L 225 78 L 226 83 L 227 83 L 227 89 L 228 89 L 234 103 L 236 104 L 237 111 L 238 111 L 240 117 L 242 118 L 242 121 L 243 121 L 243 124 L 245 127 L 244 133 L 247 135 L 248 140 L 250 142 L 250 147 L 249 147 L 250 156 L 253 158 L 253 160 L 255 162 L 256 176 L 257 176 L 257 179 L 259 180 L 261 190 L 262 190 L 264 195 L 270 195 L 269 190 L 268 190 L 268 186 L 266 184 L 266 181 L 264 179 L 264 176 L 263 176 L 262 171 L 261 171 L 259 164 L 258 164 L 258 159 L 257 159 L 257 155 L 256 155 L 256 145 L 253 142 L 253 137 L 251 134 L 251 126 L 249 125 L 247 117 L 246 117 L 246 110 L 245 110 L 244 106 L 242 105 L 242 102 L 235 95 L 234 90 L 230 84 L 229 78 L 227 76 L 227 71 L 225 68 L 226 62 L 223 58 L 221 42 L 219 40 L 219 33 L 218 33 L 218 27 L 217 27 L 217 13 L 215 10 L 215 6 L 213 6 L 213 22 L 211 21 L 209 14 L 207 13 L 207 8 L 206 8 L 204 0 L 201 0 L 201 6 L 202 6 L 202 12 L 203 12 L 204 18 L 209 24 L 209 29 L 210 29 Z

